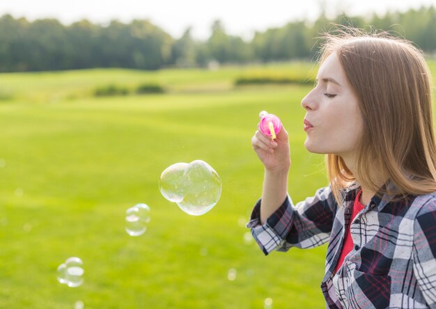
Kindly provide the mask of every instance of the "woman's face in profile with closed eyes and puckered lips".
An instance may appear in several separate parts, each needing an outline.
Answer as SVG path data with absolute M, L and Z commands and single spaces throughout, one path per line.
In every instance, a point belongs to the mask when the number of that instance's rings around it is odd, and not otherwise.
M 310 152 L 354 158 L 363 134 L 363 119 L 336 54 L 322 63 L 317 81 L 302 100 L 306 109 L 304 147 Z

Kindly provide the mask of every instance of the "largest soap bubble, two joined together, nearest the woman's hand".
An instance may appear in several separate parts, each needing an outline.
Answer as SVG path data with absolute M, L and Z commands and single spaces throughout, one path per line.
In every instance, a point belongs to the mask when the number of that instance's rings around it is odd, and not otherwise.
M 201 216 L 218 203 L 221 179 L 205 161 L 176 163 L 160 175 L 159 190 L 187 214 Z

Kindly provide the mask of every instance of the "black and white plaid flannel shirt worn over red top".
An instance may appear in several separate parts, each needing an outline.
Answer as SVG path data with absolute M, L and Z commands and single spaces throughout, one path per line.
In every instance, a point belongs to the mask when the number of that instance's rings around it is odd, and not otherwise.
M 436 308 L 436 193 L 394 201 L 374 196 L 350 222 L 360 187 L 342 191 L 338 207 L 330 187 L 283 205 L 260 225 L 260 200 L 247 227 L 265 255 L 328 241 L 321 289 L 327 308 Z M 337 273 L 345 230 L 353 250 Z

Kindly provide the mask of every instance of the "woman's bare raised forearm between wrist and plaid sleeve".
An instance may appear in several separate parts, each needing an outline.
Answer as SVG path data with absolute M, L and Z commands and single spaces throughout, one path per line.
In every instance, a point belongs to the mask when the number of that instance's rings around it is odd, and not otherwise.
M 265 168 L 262 200 L 260 202 L 260 222 L 263 224 L 284 202 L 288 194 L 288 169 L 269 171 Z

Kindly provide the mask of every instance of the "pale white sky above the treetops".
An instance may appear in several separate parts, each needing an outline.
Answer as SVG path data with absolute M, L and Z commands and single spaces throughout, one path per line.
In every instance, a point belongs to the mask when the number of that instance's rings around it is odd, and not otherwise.
M 383 15 L 390 11 L 433 5 L 436 0 L 0 0 L 0 15 L 26 17 L 30 21 L 56 18 L 63 24 L 88 19 L 107 24 L 111 19 L 129 23 L 149 19 L 173 38 L 188 27 L 194 38 L 210 35 L 212 23 L 219 19 L 226 33 L 251 38 L 256 31 L 281 27 L 296 20 L 314 20 L 324 3 L 327 16 Z

